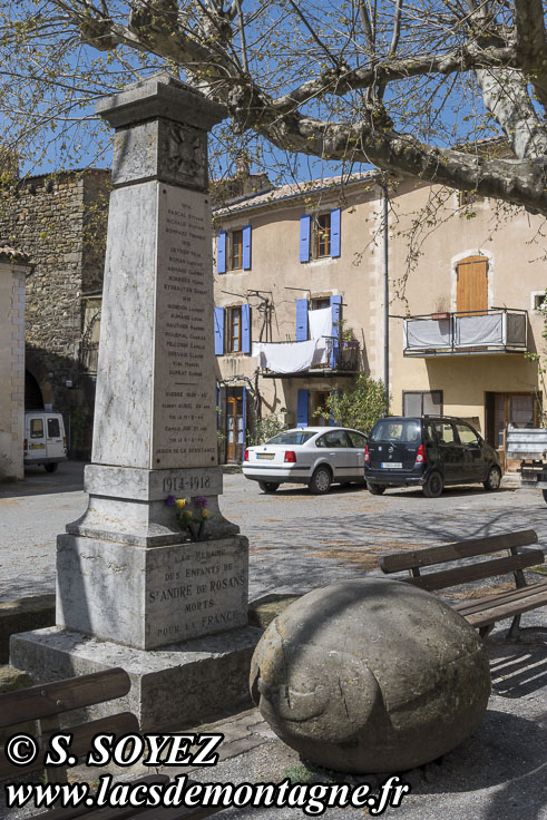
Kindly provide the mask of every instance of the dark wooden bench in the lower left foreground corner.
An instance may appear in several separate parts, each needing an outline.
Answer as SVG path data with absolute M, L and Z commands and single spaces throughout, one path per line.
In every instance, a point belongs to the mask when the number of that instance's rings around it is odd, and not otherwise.
M 69 677 L 55 683 L 43 683 L 37 686 L 0 694 L 0 730 L 13 726 L 13 734 L 18 733 L 18 724 L 37 722 L 38 732 L 36 739 L 40 746 L 40 753 L 30 765 L 14 765 L 7 755 L 4 748 L 0 749 L 0 782 L 13 781 L 16 778 L 28 774 L 39 775 L 45 771 L 48 783 L 66 783 L 66 769 L 43 767 L 43 753 L 49 748 L 49 739 L 56 732 L 62 731 L 59 725 L 59 715 L 65 712 L 92 706 L 98 703 L 115 700 L 126 695 L 131 686 L 129 675 L 120 668 L 97 672 L 91 675 Z M 109 718 L 89 721 L 82 725 L 70 725 L 68 731 L 72 733 L 70 754 L 77 758 L 85 756 L 91 750 L 91 741 L 96 734 L 101 732 L 114 733 L 117 738 L 125 734 L 139 732 L 137 718 L 130 712 L 121 712 Z M 101 773 L 100 768 L 92 769 L 92 779 L 97 780 Z M 166 774 L 150 774 L 131 784 L 164 783 L 169 778 Z M 188 781 L 189 782 L 189 781 Z M 71 820 L 71 818 L 89 818 L 89 820 L 124 820 L 124 818 L 138 817 L 138 820 L 202 820 L 221 811 L 219 808 L 188 808 L 174 807 L 125 808 L 88 807 L 85 804 L 74 808 L 57 808 L 45 813 L 37 814 L 37 820 Z

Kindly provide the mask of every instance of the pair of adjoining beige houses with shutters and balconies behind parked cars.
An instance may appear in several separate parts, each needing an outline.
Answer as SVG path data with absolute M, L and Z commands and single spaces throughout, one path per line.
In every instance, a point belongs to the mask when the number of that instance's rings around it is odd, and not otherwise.
M 388 373 L 394 414 L 471 420 L 504 463 L 507 426 L 545 419 L 545 375 L 526 357 L 544 351 L 543 218 L 416 180 L 391 185 L 387 258 L 382 178 L 372 172 L 216 211 L 227 460 L 241 460 L 253 416 L 328 423 L 318 409 L 356 372 Z M 328 321 L 315 335 L 320 314 Z

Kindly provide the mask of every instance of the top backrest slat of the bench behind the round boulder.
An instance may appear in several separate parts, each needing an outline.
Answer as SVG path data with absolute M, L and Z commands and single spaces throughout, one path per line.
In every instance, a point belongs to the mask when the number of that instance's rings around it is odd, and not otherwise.
M 501 533 L 487 538 L 470 538 L 466 541 L 445 544 L 440 547 L 426 547 L 424 549 L 384 555 L 380 560 L 380 566 L 385 574 L 399 573 L 412 567 L 429 567 L 434 564 L 472 558 L 485 553 L 497 553 L 502 549 L 526 547 L 533 544 L 537 544 L 536 531 L 534 529 L 521 529 L 517 533 Z

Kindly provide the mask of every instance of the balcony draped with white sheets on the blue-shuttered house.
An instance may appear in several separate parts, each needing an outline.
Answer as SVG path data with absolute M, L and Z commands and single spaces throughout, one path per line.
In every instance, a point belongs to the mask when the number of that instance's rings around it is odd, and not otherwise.
M 306 342 L 279 342 L 253 345 L 265 379 L 309 379 L 353 375 L 359 371 L 361 345 L 321 336 Z

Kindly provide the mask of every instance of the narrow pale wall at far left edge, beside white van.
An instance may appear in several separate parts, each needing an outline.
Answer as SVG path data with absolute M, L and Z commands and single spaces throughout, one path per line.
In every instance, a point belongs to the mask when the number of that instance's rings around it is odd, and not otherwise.
M 23 477 L 26 272 L 0 262 L 0 479 Z

